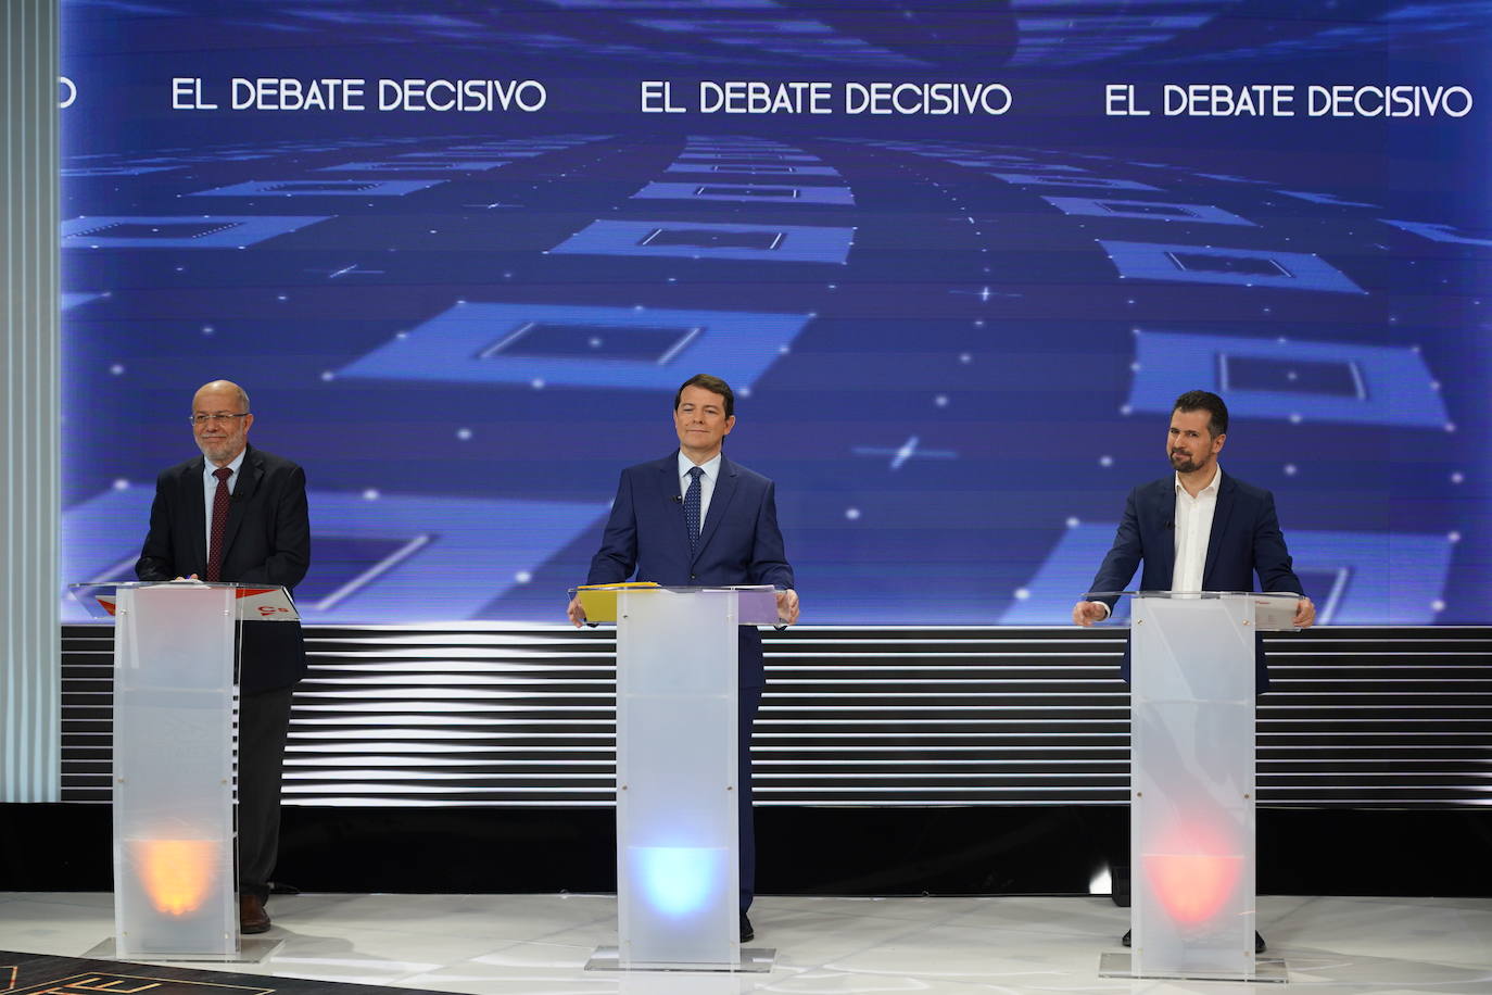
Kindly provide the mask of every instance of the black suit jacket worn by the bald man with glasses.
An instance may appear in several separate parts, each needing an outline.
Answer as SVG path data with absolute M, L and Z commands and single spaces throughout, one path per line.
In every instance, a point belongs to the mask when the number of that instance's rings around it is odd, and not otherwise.
M 151 531 L 134 573 L 140 580 L 207 576 L 207 510 L 203 458 L 164 470 L 155 480 Z M 306 471 L 249 446 L 228 506 L 222 579 L 294 588 L 310 565 Z M 300 622 L 248 622 L 240 643 L 243 694 L 288 688 L 306 674 Z

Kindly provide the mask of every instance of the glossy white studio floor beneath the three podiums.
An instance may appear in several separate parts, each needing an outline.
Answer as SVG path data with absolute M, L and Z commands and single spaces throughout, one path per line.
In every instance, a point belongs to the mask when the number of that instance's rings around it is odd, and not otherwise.
M 1128 925 L 1107 898 L 761 898 L 752 946 L 777 962 L 755 976 L 585 971 L 616 943 L 606 895 L 301 895 L 270 913 L 279 950 L 221 970 L 491 995 L 1492 992 L 1476 898 L 1261 898 L 1288 989 L 1098 977 Z M 109 895 L 0 892 L 3 950 L 81 956 L 110 931 Z

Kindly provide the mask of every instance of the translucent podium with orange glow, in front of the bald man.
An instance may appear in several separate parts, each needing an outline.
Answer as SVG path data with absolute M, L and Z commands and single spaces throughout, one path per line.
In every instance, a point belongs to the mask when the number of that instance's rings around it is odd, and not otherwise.
M 93 956 L 260 959 L 240 940 L 234 834 L 239 621 L 294 621 L 283 588 L 78 583 L 113 638 L 115 937 Z

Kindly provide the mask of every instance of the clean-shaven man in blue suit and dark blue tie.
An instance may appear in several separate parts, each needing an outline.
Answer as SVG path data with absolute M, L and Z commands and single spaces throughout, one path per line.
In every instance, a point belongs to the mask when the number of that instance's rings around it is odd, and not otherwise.
M 736 395 L 725 380 L 697 374 L 673 398 L 679 449 L 662 459 L 622 470 L 601 549 L 586 583 L 633 577 L 665 586 L 770 583 L 777 615 L 798 621 L 792 567 L 777 528 L 771 480 L 721 452 L 736 427 Z M 585 622 L 579 600 L 570 621 Z M 764 685 L 761 633 L 740 628 L 740 886 L 742 943 L 755 935 L 746 910 L 755 891 L 756 843 L 752 825 L 750 731 Z

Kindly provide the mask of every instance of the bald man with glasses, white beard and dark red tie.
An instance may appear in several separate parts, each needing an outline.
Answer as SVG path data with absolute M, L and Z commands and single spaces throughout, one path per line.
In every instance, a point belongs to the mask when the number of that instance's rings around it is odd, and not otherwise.
M 197 391 L 191 427 L 201 456 L 157 477 L 136 576 L 294 588 L 310 565 L 304 470 L 249 445 L 249 395 L 230 380 Z M 300 624 L 245 625 L 239 661 L 239 928 L 264 932 Z

